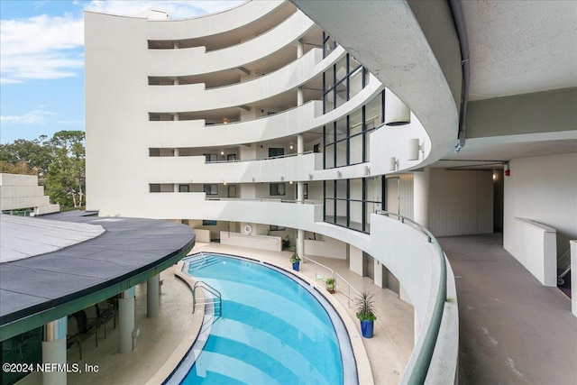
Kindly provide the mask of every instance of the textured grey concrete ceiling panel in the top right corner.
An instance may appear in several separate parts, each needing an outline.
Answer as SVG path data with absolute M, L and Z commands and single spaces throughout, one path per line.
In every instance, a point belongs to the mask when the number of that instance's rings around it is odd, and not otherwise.
M 577 2 L 463 1 L 471 100 L 577 87 Z

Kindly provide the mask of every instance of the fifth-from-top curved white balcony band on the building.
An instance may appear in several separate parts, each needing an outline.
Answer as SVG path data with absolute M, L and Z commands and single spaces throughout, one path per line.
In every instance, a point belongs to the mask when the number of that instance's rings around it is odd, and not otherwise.
M 323 168 L 323 154 L 304 153 L 263 160 L 205 162 L 204 156 L 152 157 L 147 161 L 152 183 L 175 183 L 186 175 L 194 183 L 252 183 L 309 180 Z

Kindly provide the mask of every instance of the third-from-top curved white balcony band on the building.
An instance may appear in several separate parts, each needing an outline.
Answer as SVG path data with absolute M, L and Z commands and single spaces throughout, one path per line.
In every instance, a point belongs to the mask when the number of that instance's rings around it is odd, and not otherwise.
M 332 56 L 332 60 L 338 57 Z M 194 112 L 248 105 L 307 83 L 331 65 L 323 51 L 309 50 L 298 60 L 261 78 L 231 86 L 205 88 L 204 83 L 148 87 L 149 111 L 155 113 Z

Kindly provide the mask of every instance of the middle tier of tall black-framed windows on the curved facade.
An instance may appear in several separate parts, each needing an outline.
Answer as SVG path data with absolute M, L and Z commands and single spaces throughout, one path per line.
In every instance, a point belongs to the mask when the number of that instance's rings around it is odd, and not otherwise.
M 354 111 L 324 127 L 325 169 L 370 160 L 370 134 L 383 123 L 384 91 Z

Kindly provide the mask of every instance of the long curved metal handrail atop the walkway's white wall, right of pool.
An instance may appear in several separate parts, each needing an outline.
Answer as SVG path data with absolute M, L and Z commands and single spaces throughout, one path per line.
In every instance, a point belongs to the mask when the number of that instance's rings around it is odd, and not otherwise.
M 439 336 L 439 330 L 441 329 L 441 321 L 443 319 L 444 303 L 447 299 L 447 264 L 445 261 L 445 256 L 441 245 L 435 239 L 435 236 L 431 234 L 425 227 L 417 224 L 417 222 L 412 219 L 398 215 L 396 213 L 389 213 L 388 211 L 377 210 L 375 214 L 378 215 L 394 215 L 397 216 L 401 223 L 408 223 L 415 227 L 417 230 L 421 231 L 426 235 L 428 243 L 435 244 L 437 251 L 439 252 L 439 261 L 441 264 L 441 271 L 439 277 L 439 288 L 437 296 L 435 299 L 435 307 L 433 308 L 433 316 L 431 316 L 431 323 L 426 330 L 425 339 L 423 341 L 423 346 L 421 347 L 417 361 L 415 362 L 415 367 L 410 374 L 408 379 L 409 384 L 423 384 L 426 380 L 426 373 L 431 365 L 431 360 L 433 359 L 433 353 L 435 352 L 435 344 Z

